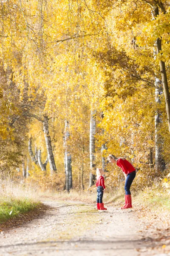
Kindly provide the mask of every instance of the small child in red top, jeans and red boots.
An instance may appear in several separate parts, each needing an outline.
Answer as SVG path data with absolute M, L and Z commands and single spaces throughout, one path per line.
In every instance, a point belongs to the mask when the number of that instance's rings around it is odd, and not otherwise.
M 105 190 L 105 180 L 104 180 L 104 171 L 100 168 L 96 169 L 97 181 L 97 209 L 98 210 L 107 210 L 102 203 L 103 191 Z

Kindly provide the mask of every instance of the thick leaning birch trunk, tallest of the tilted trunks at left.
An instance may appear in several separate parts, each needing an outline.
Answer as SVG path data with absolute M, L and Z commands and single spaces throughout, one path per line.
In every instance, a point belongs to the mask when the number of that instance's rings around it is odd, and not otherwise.
M 56 169 L 56 164 L 54 161 L 54 155 L 53 155 L 53 150 L 52 150 L 52 145 L 51 145 L 51 137 L 50 137 L 49 129 L 48 129 L 48 116 L 44 116 L 43 131 L 44 131 L 45 143 L 46 143 L 46 148 L 47 148 L 48 161 L 50 164 L 50 171 L 51 171 L 51 175 L 53 175 L 54 172 L 57 171 L 57 169 Z

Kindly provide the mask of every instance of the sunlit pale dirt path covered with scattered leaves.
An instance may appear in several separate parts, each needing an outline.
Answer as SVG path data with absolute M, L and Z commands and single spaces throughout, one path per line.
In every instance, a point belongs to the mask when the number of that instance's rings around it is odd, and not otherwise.
M 44 201 L 45 215 L 0 234 L 0 256 L 166 256 L 150 248 L 133 209 Z

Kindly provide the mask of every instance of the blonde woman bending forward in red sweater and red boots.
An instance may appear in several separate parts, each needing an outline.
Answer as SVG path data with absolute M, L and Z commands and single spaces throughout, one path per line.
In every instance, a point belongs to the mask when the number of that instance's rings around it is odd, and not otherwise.
M 117 166 L 122 168 L 125 175 L 125 205 L 121 209 L 127 209 L 132 207 L 132 198 L 130 193 L 130 186 L 136 176 L 136 170 L 131 163 L 129 163 L 125 157 L 115 157 L 113 154 L 108 156 L 109 163 L 116 163 Z

